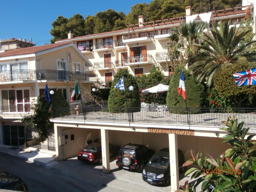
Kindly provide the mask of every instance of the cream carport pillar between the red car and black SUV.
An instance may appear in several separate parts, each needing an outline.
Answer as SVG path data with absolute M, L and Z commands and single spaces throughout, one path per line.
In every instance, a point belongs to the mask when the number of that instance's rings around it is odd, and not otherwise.
M 102 150 L 102 168 L 103 173 L 110 172 L 109 163 L 109 130 L 101 129 L 101 150 Z

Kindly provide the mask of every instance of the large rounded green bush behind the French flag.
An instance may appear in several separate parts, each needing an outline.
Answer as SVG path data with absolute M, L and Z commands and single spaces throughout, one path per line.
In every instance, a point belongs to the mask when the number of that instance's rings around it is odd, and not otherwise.
M 185 89 L 187 97 L 188 108 L 200 108 L 203 102 L 204 86 L 198 83 L 197 78 L 190 74 L 186 69 L 183 70 L 185 78 Z M 169 112 L 177 113 L 175 108 L 186 108 L 185 100 L 182 95 L 178 94 L 179 80 L 180 80 L 181 68 L 177 68 L 172 75 L 169 84 L 169 90 L 167 93 L 167 106 Z M 190 110 L 190 113 L 197 113 L 199 109 Z M 181 110 L 180 113 L 185 113 L 185 110 Z

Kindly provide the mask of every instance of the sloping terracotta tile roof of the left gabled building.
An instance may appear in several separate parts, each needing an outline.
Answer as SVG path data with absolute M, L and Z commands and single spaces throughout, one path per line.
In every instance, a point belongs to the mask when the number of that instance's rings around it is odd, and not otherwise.
M 66 45 L 66 44 L 69 44 L 69 43 L 71 43 L 71 42 L 69 41 L 69 42 L 62 42 L 62 43 L 56 43 L 56 44 L 40 45 L 40 46 L 35 46 L 35 47 L 14 49 L 14 50 L 11 50 L 11 51 L 6 51 L 6 52 L 0 53 L 0 57 L 32 54 L 32 53 L 36 53 L 36 52 L 39 52 L 39 51 L 44 51 L 44 50 L 47 50 L 47 49 L 51 49 L 51 48 L 54 48 L 54 47 L 59 47 L 59 46 L 62 46 L 62 45 Z

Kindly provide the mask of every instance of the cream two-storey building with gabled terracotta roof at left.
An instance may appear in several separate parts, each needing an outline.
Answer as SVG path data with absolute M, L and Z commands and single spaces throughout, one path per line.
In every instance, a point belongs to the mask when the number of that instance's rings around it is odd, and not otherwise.
M 90 90 L 90 83 L 97 80 L 97 75 L 89 72 L 91 66 L 71 42 L 0 53 L 0 143 L 24 145 L 20 119 L 33 114 L 30 105 L 44 95 L 46 82 L 49 90 L 62 92 L 68 102 L 74 86 L 70 80 L 78 79 Z M 79 102 L 75 97 L 73 103 Z

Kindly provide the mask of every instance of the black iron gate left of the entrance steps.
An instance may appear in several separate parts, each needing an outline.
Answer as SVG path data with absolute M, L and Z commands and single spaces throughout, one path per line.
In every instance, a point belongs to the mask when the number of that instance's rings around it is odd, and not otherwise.
M 25 141 L 27 147 L 41 149 L 40 131 L 36 128 L 25 126 Z

